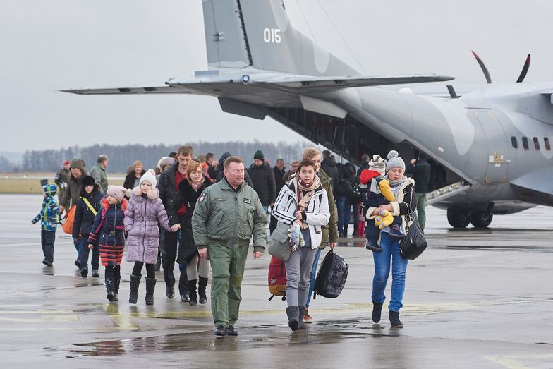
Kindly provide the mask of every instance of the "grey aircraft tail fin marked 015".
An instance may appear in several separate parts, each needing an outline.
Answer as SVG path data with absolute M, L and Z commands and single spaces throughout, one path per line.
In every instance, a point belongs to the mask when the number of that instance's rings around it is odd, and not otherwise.
M 359 75 L 294 29 L 282 0 L 202 0 L 210 68 Z

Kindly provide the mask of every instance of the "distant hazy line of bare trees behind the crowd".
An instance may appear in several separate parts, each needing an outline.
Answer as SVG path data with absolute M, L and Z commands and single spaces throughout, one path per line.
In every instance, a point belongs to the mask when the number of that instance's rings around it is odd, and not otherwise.
M 194 155 L 205 155 L 207 152 L 213 152 L 219 159 L 221 155 L 228 151 L 232 155 L 238 155 L 244 159 L 245 166 L 249 167 L 253 163 L 253 154 L 257 150 L 262 150 L 265 159 L 269 159 L 272 165 L 277 158 L 281 157 L 286 163 L 301 159 L 303 147 L 312 144 L 298 141 L 296 143 L 262 143 L 254 141 L 245 143 L 232 141 L 227 143 L 183 143 L 183 145 L 192 145 Z M 84 159 L 87 169 L 96 164 L 98 155 L 105 154 L 109 158 L 108 172 L 125 173 L 126 169 L 133 164 L 135 160 L 140 160 L 145 169 L 154 168 L 162 157 L 166 157 L 170 152 L 175 152 L 178 148 L 175 145 L 92 145 L 87 147 L 71 146 L 57 150 L 27 150 L 23 154 L 21 163 L 13 164 L 5 157 L 0 157 L 0 171 L 58 171 L 64 160 L 73 158 Z

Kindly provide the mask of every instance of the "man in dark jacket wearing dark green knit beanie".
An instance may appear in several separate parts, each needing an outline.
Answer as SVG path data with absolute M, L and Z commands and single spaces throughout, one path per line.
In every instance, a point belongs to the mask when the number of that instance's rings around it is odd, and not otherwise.
M 248 168 L 248 174 L 253 182 L 253 189 L 259 196 L 263 210 L 267 213 L 269 205 L 274 205 L 277 198 L 277 185 L 274 183 L 274 172 L 269 163 L 265 162 L 265 157 L 261 150 L 257 150 L 253 155 L 253 164 Z

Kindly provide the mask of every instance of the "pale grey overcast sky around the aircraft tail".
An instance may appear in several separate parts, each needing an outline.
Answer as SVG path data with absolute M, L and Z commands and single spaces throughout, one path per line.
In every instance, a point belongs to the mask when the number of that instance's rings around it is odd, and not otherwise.
M 482 83 L 474 49 L 494 82 L 516 80 L 528 53 L 526 81 L 553 80 L 553 1 L 284 2 L 296 28 L 368 75 L 439 73 L 456 76 L 454 84 Z M 272 119 L 224 114 L 212 97 L 57 92 L 163 85 L 207 69 L 200 0 L 0 0 L 0 45 L 0 151 L 300 140 Z

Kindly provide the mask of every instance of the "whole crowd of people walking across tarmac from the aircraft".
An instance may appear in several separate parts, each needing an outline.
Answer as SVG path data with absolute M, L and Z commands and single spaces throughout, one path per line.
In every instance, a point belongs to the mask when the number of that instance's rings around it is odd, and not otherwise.
M 211 270 L 214 334 L 225 336 L 238 334 L 235 324 L 250 242 L 253 257 L 260 258 L 269 234 L 278 231 L 288 236 L 294 224 L 300 228 L 303 243 L 302 247 L 291 245 L 283 258 L 286 316 L 292 330 L 305 329 L 306 323 L 313 322 L 309 306 L 320 254 L 326 246 L 334 249 L 339 237 L 348 236 L 353 209 L 353 234 L 365 232 L 366 248 L 375 263 L 372 320 L 380 320 L 391 273 L 389 320 L 391 326 L 403 327 L 399 310 L 408 261 L 399 254 L 399 241 L 415 221 L 417 205 L 422 205 L 419 217 L 424 227 L 424 196 L 415 190 L 427 192 L 427 186 L 404 173 L 426 179 L 429 168 L 423 153 L 407 167 L 394 150 L 387 159 L 379 155 L 363 155 L 362 159 L 356 172 L 355 165 L 336 162 L 328 150 L 306 147 L 302 158 L 286 171 L 284 159 L 277 159 L 271 167 L 257 150 L 246 169 L 243 159 L 229 152 L 217 160 L 210 152 L 194 156 L 193 147 L 184 145 L 159 159 L 156 169 L 146 170 L 140 160 L 133 162 L 123 186 L 109 185 L 106 155 L 99 155 L 90 174 L 82 159 L 73 159 L 63 163 L 55 185 L 43 187 L 42 210 L 32 222 L 41 221 L 43 263 L 51 266 L 56 226 L 64 212 L 66 217 L 72 214 L 69 233 L 77 253 L 75 266 L 87 278 L 92 253 L 91 277 L 100 277 L 101 263 L 110 302 L 119 301 L 125 245 L 126 261 L 133 263 L 131 304 L 138 303 L 144 267 L 147 305 L 154 303 L 159 264 L 167 298 L 175 296 L 174 268 L 178 265 L 178 294 L 190 306 L 207 303 Z M 394 221 L 378 226 L 375 219 L 384 213 Z

